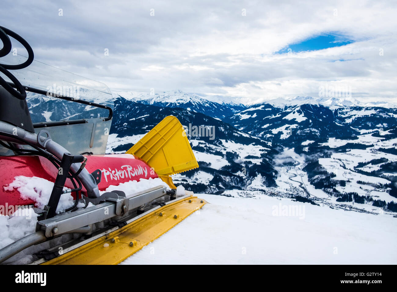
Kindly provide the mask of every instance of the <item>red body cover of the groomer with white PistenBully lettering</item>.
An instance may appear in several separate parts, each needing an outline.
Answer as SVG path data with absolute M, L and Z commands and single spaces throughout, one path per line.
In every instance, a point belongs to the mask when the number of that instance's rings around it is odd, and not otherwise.
M 98 188 L 101 191 L 109 186 L 118 186 L 120 183 L 144 178 L 158 178 L 157 174 L 144 161 L 130 154 L 112 155 L 87 155 L 85 168 L 90 172 L 96 169 L 102 171 L 101 182 Z M 50 182 L 55 182 L 58 170 L 55 166 L 39 156 L 3 156 L 0 157 L 0 205 L 31 205 L 35 202 L 24 200 L 18 190 L 4 190 L 5 186 L 15 180 L 15 176 L 39 177 Z M 73 189 L 70 179 L 66 180 L 65 186 Z M 83 186 L 83 194 L 86 190 Z M 75 198 L 75 193 L 72 193 Z

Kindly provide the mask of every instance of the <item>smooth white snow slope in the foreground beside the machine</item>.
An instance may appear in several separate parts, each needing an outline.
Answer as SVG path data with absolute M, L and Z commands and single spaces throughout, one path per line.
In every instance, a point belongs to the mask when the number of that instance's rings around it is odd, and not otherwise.
M 397 263 L 391 215 L 268 196 L 198 197 L 209 204 L 121 264 Z

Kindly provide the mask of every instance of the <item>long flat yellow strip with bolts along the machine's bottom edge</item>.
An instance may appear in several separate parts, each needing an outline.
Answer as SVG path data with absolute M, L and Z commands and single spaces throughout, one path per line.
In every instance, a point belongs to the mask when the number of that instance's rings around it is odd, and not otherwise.
M 189 196 L 160 207 L 129 224 L 42 265 L 117 265 L 207 202 Z

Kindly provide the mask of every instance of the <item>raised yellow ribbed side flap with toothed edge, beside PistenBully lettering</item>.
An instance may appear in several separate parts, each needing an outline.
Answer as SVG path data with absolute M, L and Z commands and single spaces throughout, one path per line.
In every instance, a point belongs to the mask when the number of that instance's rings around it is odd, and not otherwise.
M 185 130 L 174 116 L 164 118 L 126 153 L 145 161 L 160 177 L 198 167 Z

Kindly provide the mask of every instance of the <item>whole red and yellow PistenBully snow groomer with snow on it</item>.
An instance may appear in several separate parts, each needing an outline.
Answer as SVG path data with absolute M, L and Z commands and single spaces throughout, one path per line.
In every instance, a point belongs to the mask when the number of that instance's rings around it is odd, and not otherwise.
M 28 57 L 11 52 L 10 37 Z M 0 263 L 118 264 L 206 203 L 172 182 L 198 167 L 177 118 L 106 155 L 108 87 L 33 60 L 9 29 L 0 39 Z M 51 120 L 59 107 L 29 109 L 27 93 L 64 103 L 62 113 L 79 104 L 92 114 Z M 32 122 L 37 110 L 45 121 Z

